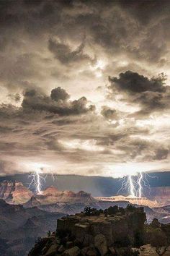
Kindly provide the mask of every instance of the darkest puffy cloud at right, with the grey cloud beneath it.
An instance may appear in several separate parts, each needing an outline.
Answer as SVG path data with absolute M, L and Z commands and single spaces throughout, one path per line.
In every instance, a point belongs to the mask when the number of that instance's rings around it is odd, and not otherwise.
M 121 101 L 140 105 L 140 111 L 130 116 L 147 116 L 153 111 L 170 108 L 170 91 L 169 86 L 165 86 L 165 81 L 164 74 L 149 79 L 129 70 L 120 73 L 119 77 L 109 77 L 109 98 L 120 94 Z

